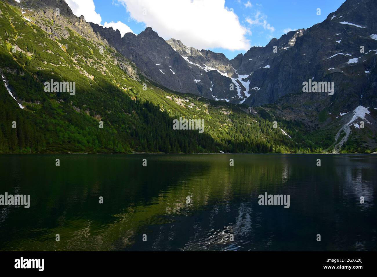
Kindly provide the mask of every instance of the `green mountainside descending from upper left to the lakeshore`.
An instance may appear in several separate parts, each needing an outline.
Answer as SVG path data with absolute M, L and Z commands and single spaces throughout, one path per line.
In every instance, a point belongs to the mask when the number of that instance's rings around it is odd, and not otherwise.
M 57 5 L 66 12 L 56 13 Z M 141 49 L 155 37 L 166 57 L 183 59 L 152 29 L 137 37 Z M 130 49 L 123 51 L 139 51 Z M 275 129 L 245 107 L 156 85 L 146 67 L 138 68 L 103 40 L 64 1 L 0 2 L 0 57 L 0 153 L 317 150 L 286 135 L 302 133 L 300 124 L 282 121 Z M 187 67 L 184 59 L 181 66 Z M 62 90 L 64 84 L 69 91 Z M 203 120 L 204 132 L 174 130 L 173 121 L 181 118 Z

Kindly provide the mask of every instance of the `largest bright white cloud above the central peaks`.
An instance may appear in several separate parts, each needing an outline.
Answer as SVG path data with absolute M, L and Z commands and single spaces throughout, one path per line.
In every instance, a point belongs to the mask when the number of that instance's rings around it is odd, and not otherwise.
M 250 49 L 247 29 L 225 0 L 119 0 L 130 16 L 165 38 L 197 49 Z

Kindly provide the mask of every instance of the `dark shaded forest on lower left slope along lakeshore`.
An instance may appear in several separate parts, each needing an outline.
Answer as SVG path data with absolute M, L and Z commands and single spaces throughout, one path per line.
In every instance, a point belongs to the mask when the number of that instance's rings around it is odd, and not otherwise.
M 201 153 L 219 148 L 205 133 L 173 130 L 173 119 L 149 102 L 130 100 L 129 108 L 135 115 L 132 120 L 115 114 L 118 122 L 103 119 L 104 128 L 100 129 L 97 120 L 86 113 L 69 110 L 72 108 L 68 105 L 64 117 L 57 117 L 53 109 L 44 108 L 49 106 L 49 101 L 34 113 L 21 110 L 6 91 L 0 90 L 1 153 Z M 48 110 L 51 113 L 45 114 Z

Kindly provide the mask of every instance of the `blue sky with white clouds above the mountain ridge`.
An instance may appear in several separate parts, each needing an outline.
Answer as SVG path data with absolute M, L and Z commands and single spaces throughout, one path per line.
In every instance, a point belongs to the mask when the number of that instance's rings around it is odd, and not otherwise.
M 95 5 L 95 11 L 91 10 L 94 9 L 91 2 Z M 135 34 L 150 26 L 165 39 L 174 37 L 199 50 L 224 53 L 229 59 L 239 53 L 244 54 L 251 46 L 265 46 L 271 38 L 280 38 L 289 30 L 308 28 L 322 22 L 343 2 L 67 0 L 72 11 L 84 14 L 87 21 L 97 21 L 95 23 L 100 22 L 105 26 L 122 26 L 123 32 L 130 29 Z M 317 15 L 317 8 L 320 8 L 320 15 Z M 115 24 L 118 21 L 121 23 Z

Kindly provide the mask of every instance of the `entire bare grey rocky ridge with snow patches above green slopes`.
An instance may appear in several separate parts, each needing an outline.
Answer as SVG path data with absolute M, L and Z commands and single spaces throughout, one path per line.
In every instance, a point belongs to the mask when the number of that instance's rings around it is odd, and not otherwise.
M 302 92 L 303 82 L 333 81 L 334 95 L 323 93 L 325 102 L 357 107 L 377 106 L 376 13 L 374 0 L 347 0 L 322 23 L 273 38 L 230 61 L 173 38 L 164 41 L 151 28 L 121 38 L 119 31 L 91 25 L 149 78 L 177 92 L 260 106 L 291 93 L 303 94 L 304 101 L 310 96 Z

